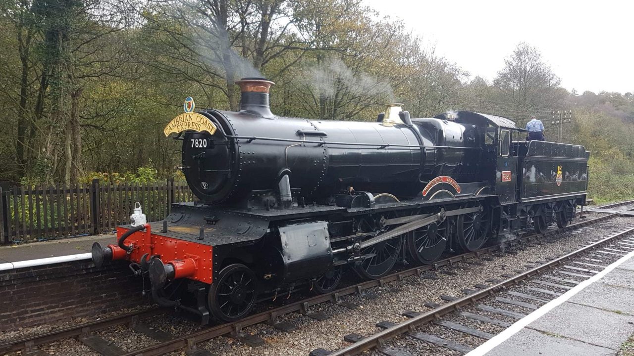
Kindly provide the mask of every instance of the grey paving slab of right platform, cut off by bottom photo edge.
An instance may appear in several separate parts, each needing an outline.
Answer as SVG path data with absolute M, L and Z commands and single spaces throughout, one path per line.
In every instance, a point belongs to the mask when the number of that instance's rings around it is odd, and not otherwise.
M 614 356 L 614 351 L 582 341 L 550 336 L 531 329 L 522 329 L 505 343 L 487 353 L 488 356 Z

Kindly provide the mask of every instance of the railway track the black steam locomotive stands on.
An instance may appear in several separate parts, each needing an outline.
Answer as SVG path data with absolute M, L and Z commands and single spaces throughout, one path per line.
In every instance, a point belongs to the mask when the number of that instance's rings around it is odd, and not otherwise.
M 607 205 L 602 208 L 607 207 L 621 207 L 624 205 L 632 204 L 634 201 L 626 201 L 622 203 L 616 203 L 612 205 Z M 469 260 L 470 258 L 479 258 L 484 257 L 486 255 L 491 255 L 494 251 L 503 251 L 507 249 L 509 246 L 520 245 L 522 243 L 529 243 L 531 241 L 539 241 L 542 238 L 547 236 L 552 236 L 559 232 L 571 231 L 573 229 L 577 229 L 579 227 L 591 226 L 597 222 L 604 221 L 611 217 L 618 215 L 616 213 L 604 215 L 602 217 L 598 217 L 592 220 L 586 220 L 584 222 L 579 222 L 577 224 L 572 224 L 564 229 L 553 229 L 552 231 L 548 231 L 545 234 L 537 234 L 537 235 L 529 235 L 522 236 L 519 239 L 515 239 L 513 241 L 508 241 L 506 243 L 501 243 L 495 246 L 489 246 L 487 248 L 483 248 L 482 250 L 463 253 L 461 255 L 455 255 L 450 258 L 446 258 L 444 260 L 439 260 L 436 264 L 432 265 L 424 265 L 420 267 L 414 267 L 411 269 L 401 270 L 399 272 L 395 272 L 388 276 L 385 276 L 381 279 L 373 280 L 373 281 L 365 281 L 362 283 L 354 284 L 351 286 L 347 286 L 345 288 L 338 289 L 333 291 L 332 293 L 327 293 L 325 295 L 312 296 L 310 298 L 306 298 L 299 302 L 289 303 L 287 305 L 283 305 L 278 308 L 273 308 L 271 310 L 267 310 L 266 312 L 261 312 L 259 314 L 250 315 L 249 317 L 242 319 L 239 322 L 221 324 L 217 326 L 207 327 L 200 331 L 196 331 L 195 333 L 189 333 L 183 336 L 172 336 L 170 334 L 162 333 L 157 329 L 148 326 L 147 324 L 143 324 L 140 322 L 141 319 L 152 317 L 155 315 L 166 314 L 169 310 L 160 309 L 160 308 L 152 308 L 150 310 L 141 310 L 139 312 L 132 312 L 129 314 L 119 315 L 116 317 L 111 317 L 107 319 L 102 319 L 100 321 L 94 321 L 87 324 L 81 324 L 73 327 L 68 327 L 66 329 L 61 329 L 58 331 L 52 331 L 50 333 L 39 334 L 36 336 L 29 336 L 26 338 L 20 338 L 19 340 L 11 340 L 5 341 L 4 343 L 0 343 L 0 352 L 8 353 L 8 352 L 33 352 L 37 353 L 37 346 L 44 345 L 46 343 L 51 343 L 53 341 L 62 340 L 65 338 L 77 338 L 82 341 L 82 343 L 91 346 L 94 350 L 98 350 L 98 352 L 102 354 L 114 354 L 114 355 L 162 355 L 167 352 L 173 352 L 179 350 L 181 348 L 186 348 L 190 352 L 197 352 L 198 355 L 204 355 L 204 350 L 197 350 L 197 344 L 210 340 L 212 338 L 216 338 L 218 336 L 223 336 L 230 334 L 234 338 L 238 340 L 245 341 L 246 343 L 254 343 L 257 344 L 257 340 L 252 340 L 249 334 L 243 333 L 243 329 L 248 326 L 252 326 L 254 324 L 259 324 L 262 322 L 267 322 L 282 331 L 290 331 L 292 330 L 292 325 L 289 325 L 285 322 L 280 322 L 280 317 L 282 315 L 291 314 L 295 312 L 299 312 L 301 314 L 307 315 L 308 317 L 313 317 L 314 319 L 320 319 L 323 315 L 319 313 L 311 312 L 311 307 L 315 305 L 319 305 L 320 303 L 325 302 L 333 302 L 339 305 L 343 305 L 344 307 L 356 307 L 355 305 L 347 305 L 346 302 L 342 302 L 341 297 L 346 295 L 353 294 L 363 294 L 366 289 L 373 288 L 376 286 L 384 286 L 386 283 L 390 283 L 392 281 L 401 281 L 404 277 L 408 276 L 420 276 L 423 272 L 427 270 L 436 270 L 439 267 L 443 267 L 446 265 L 453 265 L 457 262 L 462 262 L 465 260 Z M 118 349 L 112 343 L 100 339 L 99 336 L 95 336 L 94 332 L 107 329 L 108 327 L 113 326 L 129 326 L 135 331 L 139 333 L 143 333 L 146 336 L 149 336 L 153 340 L 159 341 L 154 345 L 146 346 L 145 348 L 140 348 L 139 350 L 134 350 L 132 352 L 123 352 Z

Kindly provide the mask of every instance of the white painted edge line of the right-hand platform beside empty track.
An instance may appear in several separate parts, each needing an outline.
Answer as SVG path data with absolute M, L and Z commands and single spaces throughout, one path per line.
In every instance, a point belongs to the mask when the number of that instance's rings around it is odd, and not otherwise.
M 497 334 L 496 336 L 493 336 L 493 338 L 491 338 L 489 341 L 486 341 L 485 343 L 483 343 L 482 345 L 478 346 L 477 348 L 475 348 L 471 352 L 467 353 L 467 355 L 465 355 L 465 356 L 481 356 L 481 355 L 485 355 L 487 352 L 493 350 L 493 348 L 495 348 L 496 346 L 498 346 L 501 343 L 503 343 L 504 341 L 508 340 L 508 338 L 510 338 L 511 336 L 519 333 L 519 331 L 521 329 L 523 329 L 524 327 L 526 327 L 528 324 L 531 324 L 531 322 L 536 321 L 537 319 L 539 319 L 541 316 L 543 316 L 547 312 L 550 312 L 550 310 L 552 310 L 553 308 L 557 307 L 557 305 L 560 305 L 561 303 L 566 302 L 567 300 L 572 298 L 574 295 L 576 295 L 577 293 L 579 293 L 580 291 L 585 289 L 587 286 L 590 286 L 590 284 L 595 283 L 596 281 L 598 281 L 599 279 L 604 277 L 606 274 L 608 274 L 613 269 L 615 269 L 619 265 L 623 264 L 623 262 L 625 262 L 626 260 L 630 259 L 633 256 L 634 256 L 634 251 L 631 251 L 627 255 L 619 258 L 619 260 L 617 260 L 616 262 L 612 263 L 611 265 L 608 265 L 601 272 L 598 272 L 597 274 L 595 274 L 594 276 L 590 277 L 589 279 L 586 279 L 585 281 L 583 281 L 583 282 L 577 284 L 576 286 L 574 286 L 573 289 L 570 289 L 566 293 L 564 293 L 564 294 L 560 295 L 559 297 L 551 300 L 550 302 L 546 303 L 545 305 L 542 305 L 538 310 L 535 310 L 531 314 L 526 315 L 525 317 L 523 317 L 519 321 L 515 322 L 515 324 L 513 324 L 512 326 L 509 326 L 507 329 L 502 331 L 500 334 Z

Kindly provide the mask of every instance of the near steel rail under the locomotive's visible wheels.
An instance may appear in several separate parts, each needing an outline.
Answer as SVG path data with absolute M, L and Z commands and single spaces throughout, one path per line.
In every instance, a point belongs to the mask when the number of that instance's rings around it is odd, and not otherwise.
M 422 265 L 419 267 L 413 267 L 411 269 L 402 270 L 400 272 L 389 274 L 388 276 L 385 276 L 380 279 L 375 279 L 372 281 L 365 281 L 362 283 L 354 284 L 353 286 L 348 286 L 342 289 L 338 289 L 336 291 L 332 291 L 327 294 L 313 296 L 311 298 L 307 298 L 300 302 L 290 303 L 288 305 L 284 305 L 282 307 L 275 308 L 273 310 L 268 310 L 266 312 L 261 312 L 259 314 L 251 315 L 250 317 L 246 317 L 245 319 L 241 319 L 240 321 L 231 322 L 227 324 L 221 324 L 218 326 L 213 326 L 207 329 L 197 331 L 195 333 L 178 336 L 174 338 L 173 340 L 157 343 L 155 345 L 146 346 L 145 348 L 140 348 L 138 350 L 124 353 L 121 356 L 162 355 L 164 353 L 177 351 L 181 348 L 190 348 L 191 350 L 195 350 L 197 343 L 211 340 L 213 338 L 217 338 L 219 336 L 223 336 L 226 334 L 238 334 L 242 332 L 242 329 L 244 327 L 260 324 L 261 322 L 275 323 L 278 317 L 280 317 L 281 315 L 290 314 L 292 312 L 302 312 L 303 314 L 306 314 L 308 312 L 309 307 L 323 303 L 323 302 L 329 302 L 329 301 L 337 303 L 339 302 L 339 298 L 341 296 L 351 295 L 354 293 L 361 294 L 363 293 L 363 290 L 365 289 L 376 287 L 376 286 L 384 286 L 385 283 L 389 283 L 392 281 L 401 281 L 404 277 L 415 276 L 415 275 L 420 276 L 422 272 L 424 272 L 425 270 L 434 270 L 434 269 L 438 269 L 438 267 L 442 267 L 445 265 L 453 265 L 457 262 L 462 262 L 469 258 L 474 258 L 474 257 L 477 258 L 477 257 L 481 257 L 481 255 L 486 255 L 486 254 L 490 255 L 491 253 L 493 253 L 493 251 L 503 251 L 508 246 L 519 245 L 524 242 L 530 242 L 530 241 L 538 240 L 543 237 L 552 236 L 560 232 L 571 231 L 578 227 L 584 227 L 590 224 L 601 222 L 603 220 L 609 219 L 610 217 L 614 217 L 616 215 L 618 215 L 618 213 L 604 215 L 602 217 L 597 217 L 595 219 L 578 222 L 576 224 L 563 227 L 561 229 L 548 231 L 543 234 L 532 234 L 529 236 L 523 236 L 513 241 L 507 241 L 505 243 L 500 243 L 498 245 L 489 246 L 487 248 L 483 248 L 478 251 L 467 252 L 461 255 L 445 258 L 444 260 L 439 260 L 438 262 L 434 264 Z

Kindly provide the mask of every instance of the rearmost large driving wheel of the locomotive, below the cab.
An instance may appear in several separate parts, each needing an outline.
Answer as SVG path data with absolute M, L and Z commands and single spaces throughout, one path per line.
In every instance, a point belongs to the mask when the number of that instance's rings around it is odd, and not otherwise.
M 491 221 L 486 210 L 460 215 L 456 219 L 456 240 L 463 251 L 476 251 L 488 238 Z

